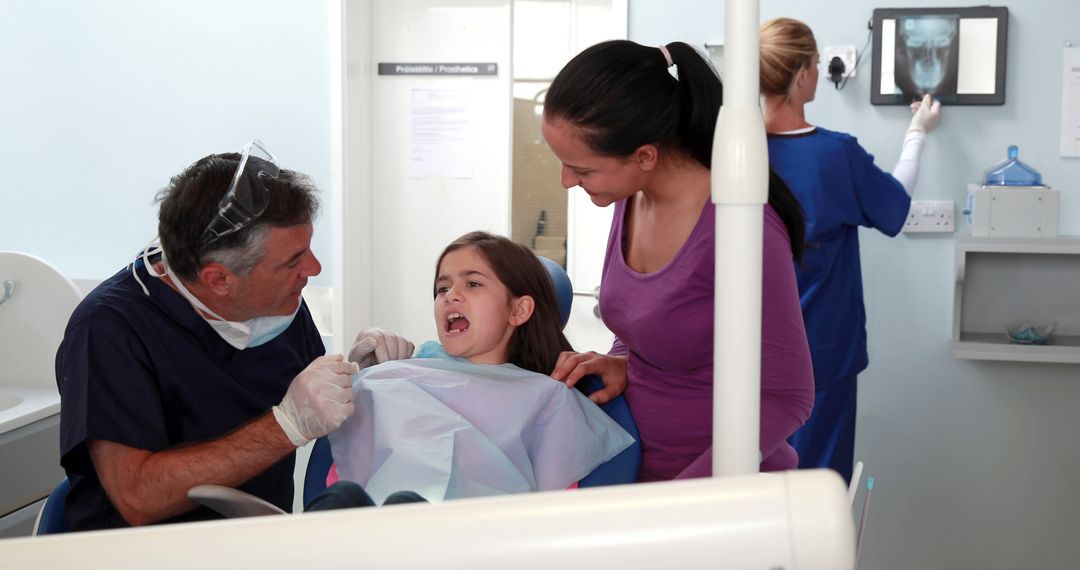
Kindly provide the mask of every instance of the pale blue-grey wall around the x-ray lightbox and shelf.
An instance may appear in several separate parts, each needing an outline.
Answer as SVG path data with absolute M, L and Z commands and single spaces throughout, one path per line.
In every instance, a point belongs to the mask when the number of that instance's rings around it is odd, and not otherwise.
M 888 6 L 957 4 L 897 0 Z M 1062 233 L 1080 234 L 1080 161 L 1057 155 L 1062 46 L 1080 38 L 1080 3 L 996 4 L 1010 10 L 1007 103 L 945 109 L 941 130 L 927 142 L 916 196 L 962 203 L 966 184 L 1014 144 L 1062 191 Z M 630 38 L 720 40 L 723 5 L 632 0 Z M 882 5 L 761 0 L 761 18 L 802 19 L 819 48 L 861 49 L 866 22 Z M 885 168 L 892 167 L 908 121 L 902 107 L 869 105 L 868 59 L 842 92 L 822 81 L 807 112 L 811 123 L 856 135 Z M 876 477 L 862 567 L 1075 567 L 1080 366 L 954 358 L 953 236 L 890 240 L 864 231 L 860 239 L 870 367 L 860 377 L 855 454 Z

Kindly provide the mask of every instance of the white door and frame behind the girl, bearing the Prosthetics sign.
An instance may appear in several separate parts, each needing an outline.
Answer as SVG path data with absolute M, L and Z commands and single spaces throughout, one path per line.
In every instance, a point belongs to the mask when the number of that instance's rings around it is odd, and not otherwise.
M 353 320 L 353 327 L 375 324 L 419 343 L 435 338 L 431 291 L 440 252 L 471 230 L 510 232 L 510 4 L 507 0 L 379 0 L 346 5 L 352 14 L 369 6 L 370 14 L 367 22 L 353 15 L 346 18 L 345 103 L 346 164 L 365 160 L 365 148 L 370 149 L 370 173 L 350 168 L 346 179 L 347 198 L 357 192 L 369 199 L 347 203 L 345 213 L 347 225 L 369 223 L 370 238 L 366 244 L 347 243 L 346 247 L 369 256 L 370 263 L 365 275 L 361 263 L 345 260 L 347 271 L 356 279 L 345 284 L 342 297 L 357 314 L 370 315 L 367 322 Z M 365 33 L 372 38 L 369 49 Z M 499 70 L 495 77 L 375 76 L 379 62 L 495 62 Z M 367 79 L 364 73 L 369 73 Z M 471 176 L 411 177 L 414 90 L 468 94 L 472 136 L 465 158 L 472 165 Z M 368 112 L 365 109 L 369 109 L 369 122 L 354 120 L 355 113 Z M 357 238 L 364 233 L 357 232 Z M 345 315 L 348 339 L 356 334 L 348 324 L 352 318 Z

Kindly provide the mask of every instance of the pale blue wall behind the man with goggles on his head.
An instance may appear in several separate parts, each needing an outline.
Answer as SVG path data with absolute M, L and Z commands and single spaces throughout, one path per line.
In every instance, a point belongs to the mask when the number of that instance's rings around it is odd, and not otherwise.
M 328 1 L 0 0 L 0 249 L 111 275 L 171 176 L 255 137 L 329 206 L 329 26 Z

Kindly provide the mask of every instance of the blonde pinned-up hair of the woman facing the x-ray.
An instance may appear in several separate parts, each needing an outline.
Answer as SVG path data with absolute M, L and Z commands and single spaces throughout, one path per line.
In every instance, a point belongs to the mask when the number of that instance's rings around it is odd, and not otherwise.
M 813 65 L 818 41 L 806 24 L 792 18 L 773 18 L 761 24 L 761 95 L 783 95 L 786 99 L 795 74 Z

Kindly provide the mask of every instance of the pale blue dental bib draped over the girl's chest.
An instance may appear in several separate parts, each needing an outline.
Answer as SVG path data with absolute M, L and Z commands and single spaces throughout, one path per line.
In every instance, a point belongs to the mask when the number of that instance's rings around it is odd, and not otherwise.
M 340 478 L 377 503 L 400 490 L 437 502 L 565 489 L 633 443 L 548 376 L 433 355 L 357 372 L 356 411 L 329 435 Z

